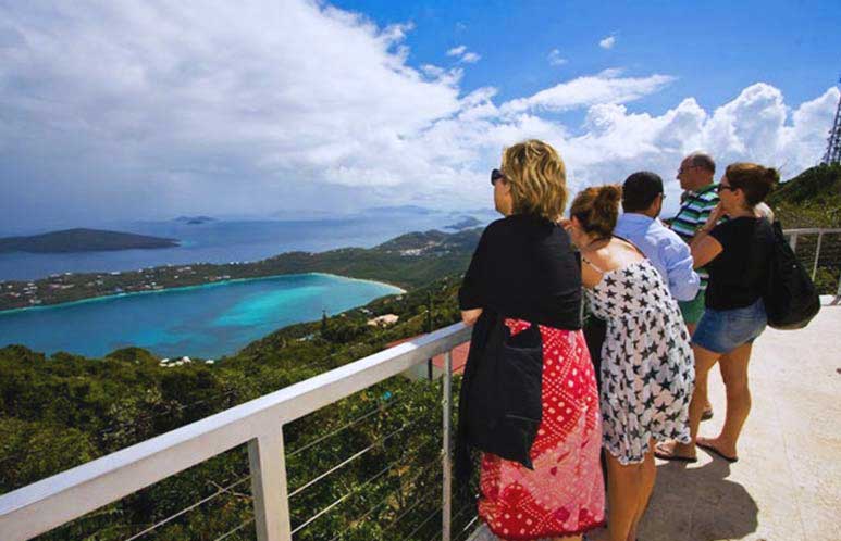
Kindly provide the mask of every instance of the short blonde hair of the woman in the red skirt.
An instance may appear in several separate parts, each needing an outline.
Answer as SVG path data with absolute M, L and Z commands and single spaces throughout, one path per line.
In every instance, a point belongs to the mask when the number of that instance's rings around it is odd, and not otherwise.
M 567 205 L 567 168 L 552 146 L 530 139 L 505 149 L 502 172 L 511 186 L 515 214 L 534 214 L 552 222 Z

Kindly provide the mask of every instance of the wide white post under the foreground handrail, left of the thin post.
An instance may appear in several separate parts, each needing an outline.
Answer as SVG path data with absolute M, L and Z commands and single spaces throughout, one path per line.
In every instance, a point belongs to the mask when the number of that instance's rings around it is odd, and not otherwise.
M 292 540 L 281 426 L 248 442 L 248 462 L 258 541 Z

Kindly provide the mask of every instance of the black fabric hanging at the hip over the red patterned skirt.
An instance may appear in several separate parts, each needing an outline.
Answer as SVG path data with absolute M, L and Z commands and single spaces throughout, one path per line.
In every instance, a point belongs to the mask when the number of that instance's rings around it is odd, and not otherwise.
M 532 324 L 511 336 L 505 318 L 495 319 L 483 345 L 471 342 L 459 412 L 466 418 L 459 420 L 465 423 L 460 428 L 470 446 L 534 469 L 530 453 L 542 418 L 541 331 Z M 481 351 L 472 351 L 474 344 Z

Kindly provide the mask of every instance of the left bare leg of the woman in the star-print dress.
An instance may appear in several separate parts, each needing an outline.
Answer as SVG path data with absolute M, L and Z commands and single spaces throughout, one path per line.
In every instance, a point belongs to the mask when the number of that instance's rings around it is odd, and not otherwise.
M 633 526 L 642 487 L 642 464 L 622 466 L 610 453 L 607 456 L 607 536 L 610 541 L 628 541 Z

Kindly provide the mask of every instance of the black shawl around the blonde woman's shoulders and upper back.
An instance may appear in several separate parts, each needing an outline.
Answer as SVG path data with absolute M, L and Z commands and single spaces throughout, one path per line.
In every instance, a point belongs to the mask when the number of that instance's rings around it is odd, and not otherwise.
M 557 224 L 514 215 L 487 226 L 458 292 L 461 310 L 492 310 L 559 329 L 581 328 L 581 268 Z

